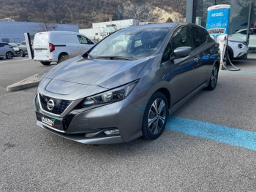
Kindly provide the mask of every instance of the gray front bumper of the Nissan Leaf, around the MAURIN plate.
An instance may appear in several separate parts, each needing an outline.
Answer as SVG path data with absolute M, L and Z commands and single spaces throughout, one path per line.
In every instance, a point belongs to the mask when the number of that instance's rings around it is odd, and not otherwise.
M 40 109 L 34 102 L 37 112 L 56 118 Z M 67 130 L 58 131 L 37 120 L 37 126 L 57 134 L 60 137 L 71 139 L 83 144 L 110 144 L 129 142 L 142 136 L 143 111 L 139 110 L 127 99 L 89 110 L 71 110 L 72 120 L 67 126 Z M 67 115 L 59 120 L 66 121 Z M 118 129 L 119 134 L 107 135 L 105 131 Z

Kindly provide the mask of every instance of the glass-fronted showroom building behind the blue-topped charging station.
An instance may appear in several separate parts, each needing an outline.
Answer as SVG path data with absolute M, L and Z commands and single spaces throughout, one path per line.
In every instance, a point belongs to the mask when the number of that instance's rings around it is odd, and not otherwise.
M 231 5 L 229 34 L 248 42 L 248 58 L 256 58 L 256 0 L 187 0 L 187 22 L 206 27 L 207 9 L 217 4 Z

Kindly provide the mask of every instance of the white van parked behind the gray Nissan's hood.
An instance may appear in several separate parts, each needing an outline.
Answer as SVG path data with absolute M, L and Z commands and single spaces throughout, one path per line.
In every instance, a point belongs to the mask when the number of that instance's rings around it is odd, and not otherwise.
M 86 53 L 94 46 L 83 34 L 68 31 L 40 32 L 34 36 L 34 61 L 43 65 L 58 62 Z

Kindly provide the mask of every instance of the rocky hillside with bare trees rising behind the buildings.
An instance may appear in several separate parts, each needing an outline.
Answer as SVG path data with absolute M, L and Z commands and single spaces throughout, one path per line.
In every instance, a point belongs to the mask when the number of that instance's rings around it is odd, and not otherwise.
M 184 21 L 186 0 L 0 0 L 0 18 L 74 24 L 91 28 L 91 23 L 135 18 L 140 21 Z M 67 5 L 67 7 L 65 7 Z

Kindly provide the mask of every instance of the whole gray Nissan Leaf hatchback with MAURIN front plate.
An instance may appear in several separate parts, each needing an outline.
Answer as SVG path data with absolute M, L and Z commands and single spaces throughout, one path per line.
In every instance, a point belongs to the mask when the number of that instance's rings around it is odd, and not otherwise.
M 124 28 L 42 77 L 37 125 L 84 144 L 157 139 L 168 115 L 201 89 L 214 90 L 218 72 L 219 47 L 205 28 Z

